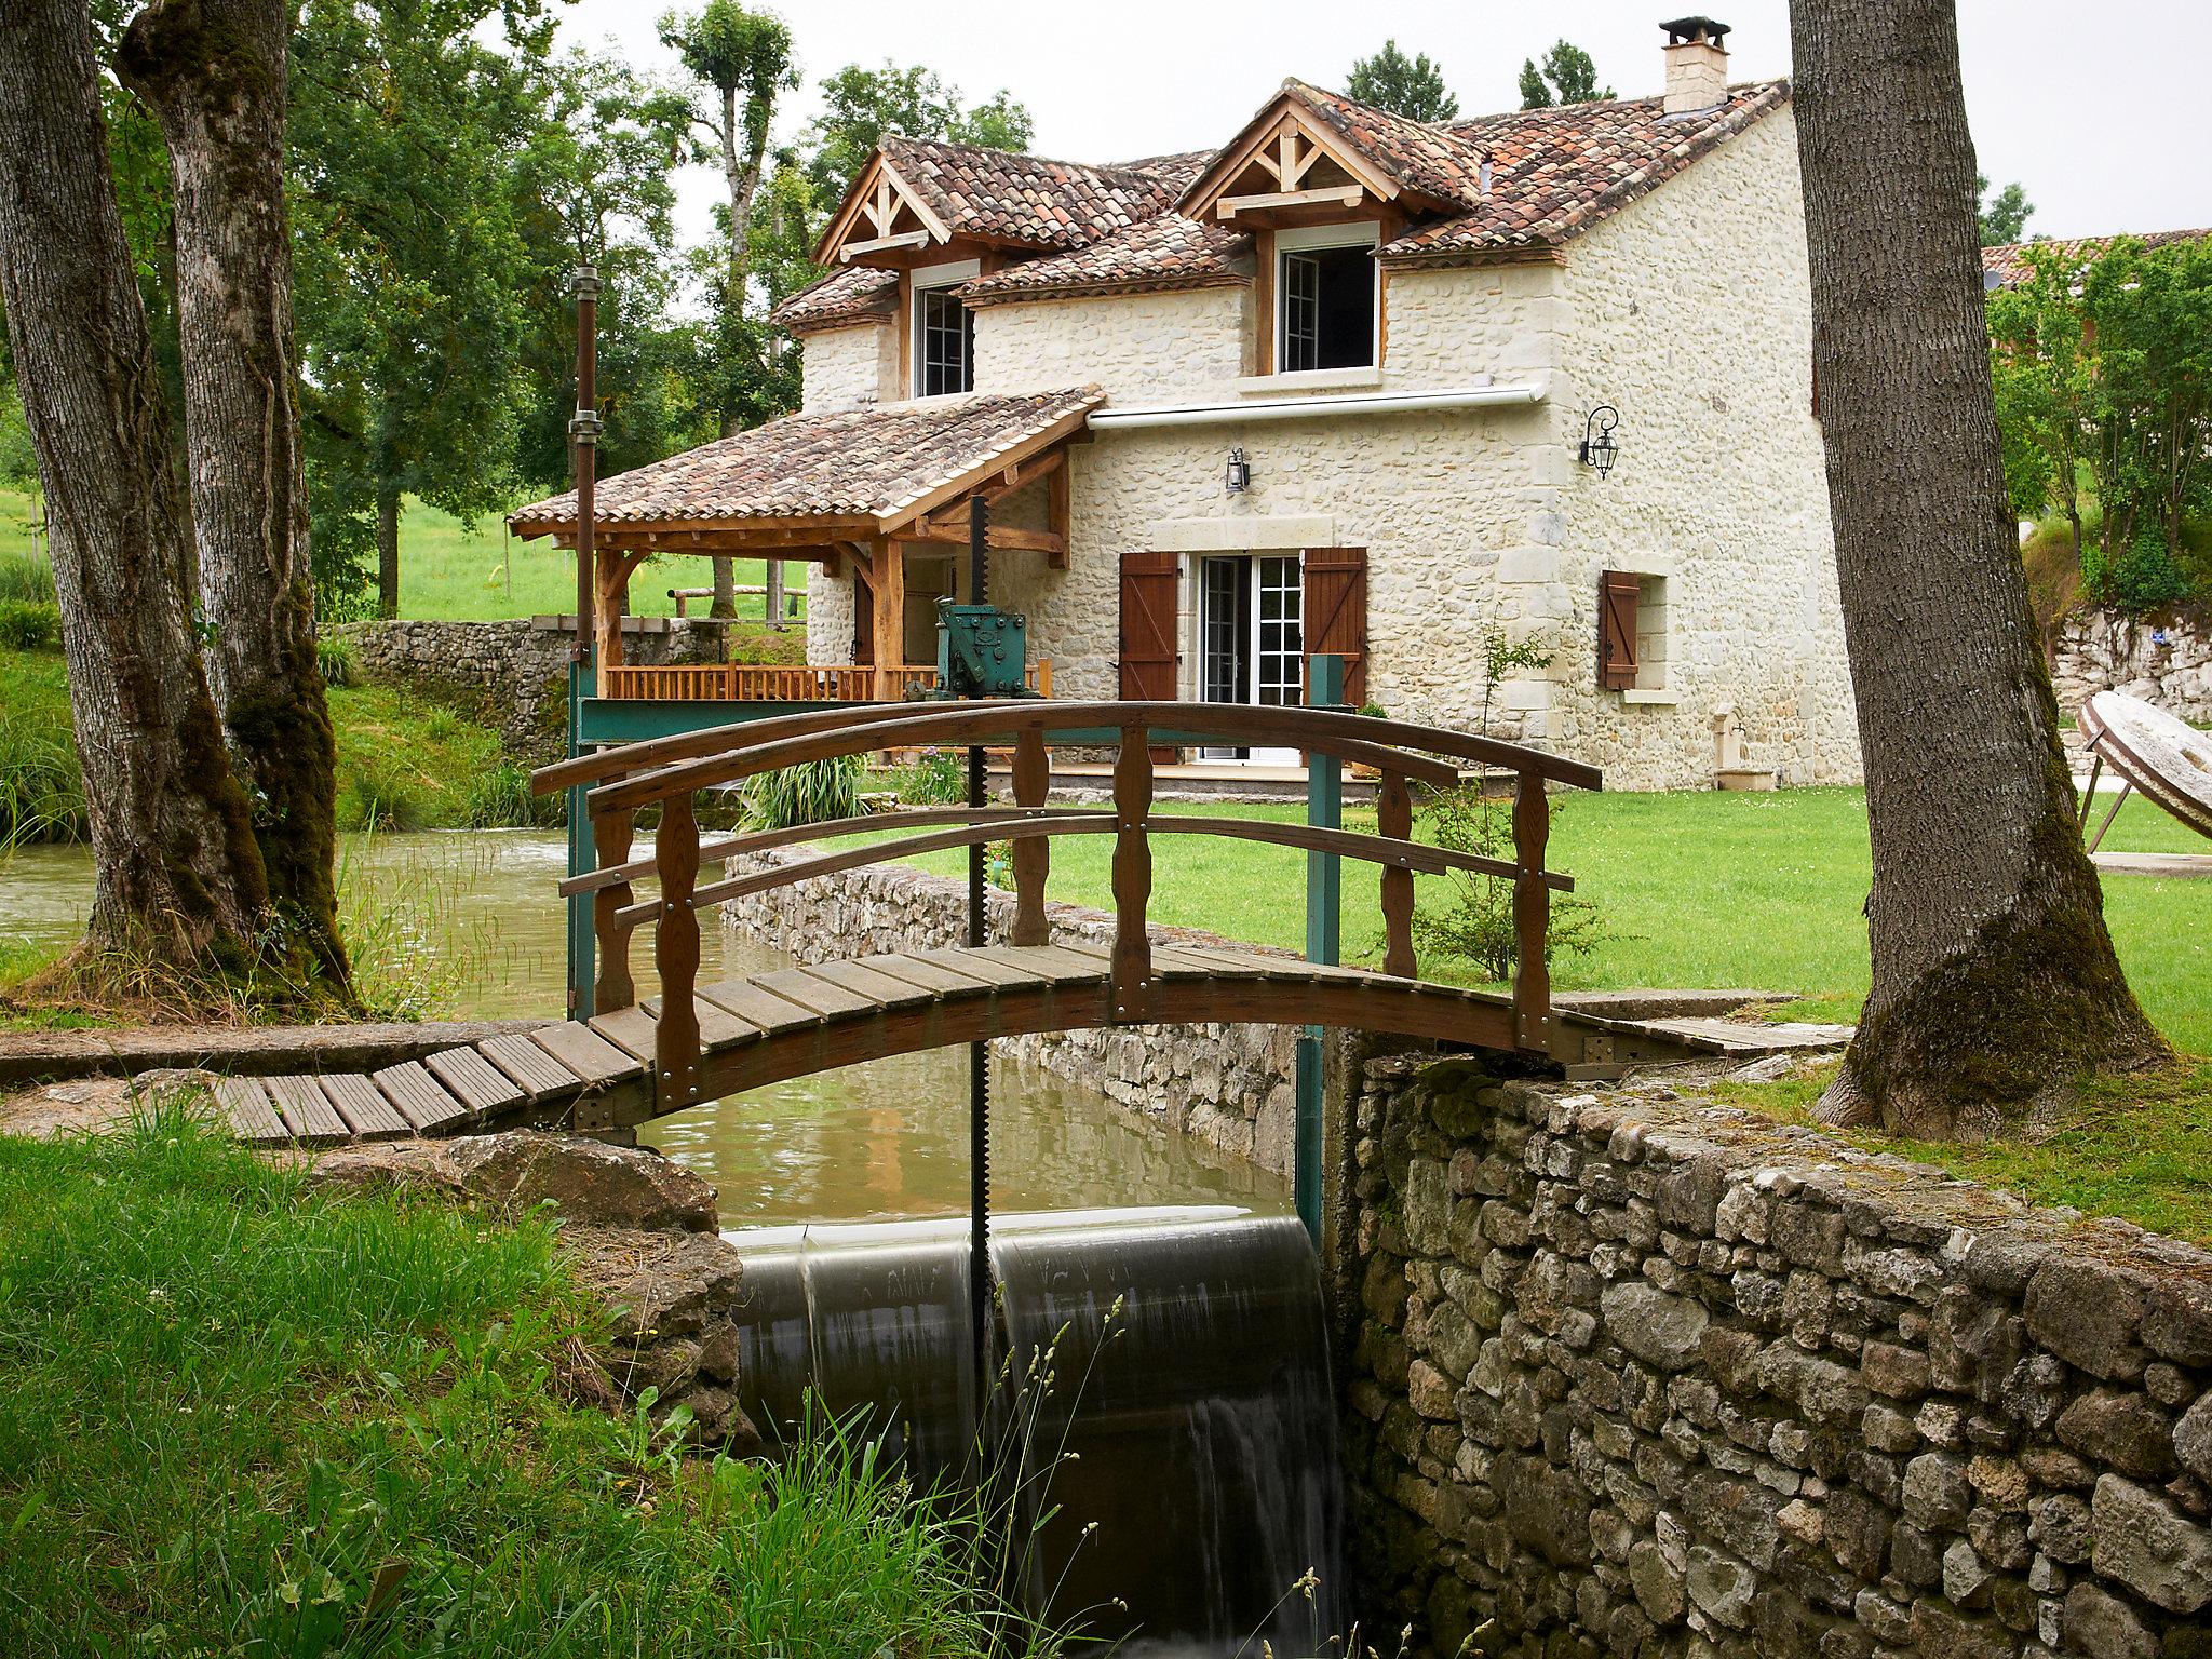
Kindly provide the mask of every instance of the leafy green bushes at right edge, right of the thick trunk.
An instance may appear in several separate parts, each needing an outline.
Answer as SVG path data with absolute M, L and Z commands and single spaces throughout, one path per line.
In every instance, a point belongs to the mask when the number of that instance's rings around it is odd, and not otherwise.
M 2185 597 L 2212 511 L 2212 248 L 2121 237 L 2024 259 L 1989 299 L 2011 507 L 2066 518 L 2090 599 L 2139 613 Z

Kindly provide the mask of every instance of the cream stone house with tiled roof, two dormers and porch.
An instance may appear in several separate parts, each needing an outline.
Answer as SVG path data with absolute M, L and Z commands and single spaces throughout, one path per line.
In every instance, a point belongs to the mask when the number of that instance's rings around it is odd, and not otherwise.
M 606 480 L 602 542 L 812 560 L 810 661 L 896 695 L 980 495 L 1057 697 L 1296 701 L 1321 650 L 1617 787 L 1710 787 L 1723 730 L 1856 781 L 1790 86 L 1725 33 L 1666 24 L 1655 97 L 1292 80 L 1119 166 L 887 137 L 776 312 L 801 414 Z M 1493 637 L 1542 666 L 1489 686 Z

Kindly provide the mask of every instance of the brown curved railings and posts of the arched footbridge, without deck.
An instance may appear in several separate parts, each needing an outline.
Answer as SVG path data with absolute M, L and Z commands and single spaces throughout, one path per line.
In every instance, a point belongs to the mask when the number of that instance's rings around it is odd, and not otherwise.
M 1117 748 L 1113 805 L 1051 805 L 1051 745 Z M 1314 763 L 1371 768 L 1376 785 L 1376 834 L 1265 818 L 1155 816 L 1155 745 L 1239 743 L 1298 748 Z M 695 796 L 743 779 L 805 761 L 874 754 L 900 748 L 1002 745 L 1013 750 L 1013 805 L 1006 807 L 916 807 L 865 818 L 759 830 L 701 843 Z M 1438 759 L 1442 757 L 1442 759 Z M 1511 772 L 1513 856 L 1431 847 L 1413 841 L 1413 787 L 1453 787 L 1460 765 L 1473 763 Z M 533 787 L 586 785 L 595 869 L 562 883 L 564 896 L 588 894 L 599 971 L 595 1009 L 630 1006 L 637 987 L 630 975 L 630 938 L 653 922 L 661 1009 L 655 1026 L 657 1093 L 666 1108 L 699 1095 L 699 1029 L 692 1006 L 699 973 L 699 911 L 728 898 L 785 887 L 810 876 L 860 869 L 920 852 L 1013 843 L 1015 945 L 1046 945 L 1044 885 L 1053 836 L 1110 834 L 1113 847 L 1113 971 L 1115 1022 L 1157 1022 L 1172 1015 L 1152 973 L 1148 909 L 1152 894 L 1152 836 L 1201 834 L 1301 847 L 1310 854 L 1360 858 L 1383 872 L 1383 973 L 1411 980 L 1413 876 L 1473 872 L 1513 883 L 1515 973 L 1511 1031 L 1515 1046 L 1544 1053 L 1551 1033 L 1551 973 L 1546 933 L 1551 894 L 1573 880 L 1544 867 L 1551 836 L 1548 783 L 1601 787 L 1601 774 L 1557 754 L 1469 737 L 1442 728 L 1409 726 L 1365 714 L 1316 708 L 1254 708 L 1239 703 L 876 703 L 867 708 L 783 714 L 703 732 L 628 743 L 599 754 L 560 761 L 533 776 Z M 635 814 L 659 807 L 655 856 L 630 858 Z M 858 832 L 900 832 L 891 838 L 827 852 L 801 863 L 776 865 L 706 885 L 701 869 L 721 869 L 732 858 L 772 847 L 832 841 Z M 907 834 L 916 832 L 916 834 Z M 659 896 L 639 900 L 635 883 L 657 880 Z

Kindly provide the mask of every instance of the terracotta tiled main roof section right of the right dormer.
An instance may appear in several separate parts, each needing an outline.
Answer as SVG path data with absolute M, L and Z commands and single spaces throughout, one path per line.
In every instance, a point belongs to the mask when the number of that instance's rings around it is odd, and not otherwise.
M 1455 122 L 1451 133 L 1489 157 L 1489 195 L 1473 212 L 1398 237 L 1378 257 L 1416 263 L 1553 248 L 1787 102 L 1790 82 L 1770 80 L 1732 86 L 1728 102 L 1690 115 L 1668 115 L 1657 97 L 1630 97 Z

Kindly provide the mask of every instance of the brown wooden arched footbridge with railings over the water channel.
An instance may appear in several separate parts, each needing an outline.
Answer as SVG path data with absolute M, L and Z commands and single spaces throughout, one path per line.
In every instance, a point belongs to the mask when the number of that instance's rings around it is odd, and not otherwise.
M 1376 774 L 1376 834 L 1314 823 L 1157 814 L 1159 745 L 1298 748 Z M 703 841 L 697 794 L 805 761 L 907 748 L 1011 752 L 1013 801 L 911 807 Z M 1113 750 L 1113 803 L 1051 801 L 1051 750 Z M 1462 768 L 1513 781 L 1513 856 L 1413 841 L 1413 790 L 1451 787 Z M 365 1077 L 232 1079 L 221 1102 L 241 1137 L 338 1141 L 453 1133 L 515 1121 L 606 1130 L 761 1084 L 863 1060 L 1077 1026 L 1267 1022 L 1356 1026 L 1484 1048 L 1555 1053 L 1544 936 L 1548 785 L 1599 787 L 1555 754 L 1429 726 L 1318 708 L 1232 703 L 969 701 L 878 703 L 684 732 L 608 748 L 535 774 L 540 792 L 584 790 L 593 869 L 562 883 L 593 907 L 593 1011 L 526 1035 L 431 1055 Z M 653 856 L 633 856 L 637 814 L 659 812 Z M 1188 945 L 1148 927 L 1155 836 L 1230 836 L 1380 869 L 1383 969 L 1270 949 Z M 726 874 L 745 854 L 867 836 L 801 860 Z M 1113 836 L 1110 945 L 1053 942 L 1051 843 Z M 1009 841 L 1015 920 L 1004 945 L 920 949 L 699 982 L 701 914 L 812 876 L 945 847 Z M 1425 982 L 1413 967 L 1413 876 L 1464 869 L 1513 883 L 1520 940 L 1511 993 Z M 701 876 L 710 876 L 701 880 Z M 650 887 L 646 896 L 639 887 Z M 639 1000 L 630 949 L 653 938 L 659 995 Z

